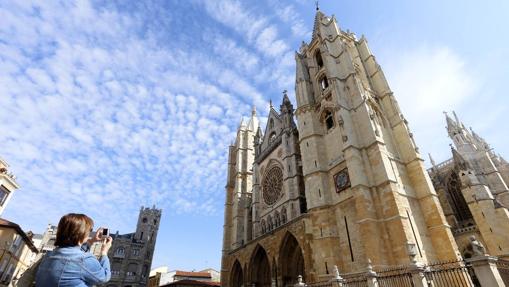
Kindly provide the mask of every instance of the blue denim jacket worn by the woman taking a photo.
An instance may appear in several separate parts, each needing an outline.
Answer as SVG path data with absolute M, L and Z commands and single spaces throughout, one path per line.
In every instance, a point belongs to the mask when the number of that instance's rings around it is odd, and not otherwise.
M 35 278 L 37 287 L 86 287 L 110 280 L 108 256 L 99 260 L 79 246 L 61 247 L 48 252 L 42 259 Z

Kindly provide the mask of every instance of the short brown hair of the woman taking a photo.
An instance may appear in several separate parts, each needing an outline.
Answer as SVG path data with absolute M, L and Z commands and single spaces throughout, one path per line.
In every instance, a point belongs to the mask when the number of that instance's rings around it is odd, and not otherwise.
M 55 246 L 76 246 L 87 237 L 94 226 L 92 218 L 80 213 L 69 213 L 58 222 Z

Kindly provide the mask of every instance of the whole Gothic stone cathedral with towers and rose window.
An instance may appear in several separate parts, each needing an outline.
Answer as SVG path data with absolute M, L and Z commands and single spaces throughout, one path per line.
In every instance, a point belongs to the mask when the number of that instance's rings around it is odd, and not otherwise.
M 334 16 L 317 10 L 295 61 L 296 106 L 284 93 L 266 126 L 253 109 L 229 147 L 223 286 L 457 260 L 465 234 L 508 254 L 509 166 L 479 136 L 448 117 L 453 160 L 427 171 L 367 40 Z

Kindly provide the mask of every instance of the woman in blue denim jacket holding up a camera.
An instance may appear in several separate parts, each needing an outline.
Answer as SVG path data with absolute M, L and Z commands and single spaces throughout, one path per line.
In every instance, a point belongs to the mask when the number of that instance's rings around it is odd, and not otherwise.
M 37 287 L 85 287 L 110 280 L 108 250 L 112 238 L 102 239 L 102 228 L 99 228 L 94 238 L 87 241 L 93 225 L 92 219 L 84 214 L 70 213 L 60 219 L 55 241 L 57 248 L 42 259 L 35 278 Z M 97 260 L 84 249 L 88 250 L 94 242 L 101 240 L 101 257 Z

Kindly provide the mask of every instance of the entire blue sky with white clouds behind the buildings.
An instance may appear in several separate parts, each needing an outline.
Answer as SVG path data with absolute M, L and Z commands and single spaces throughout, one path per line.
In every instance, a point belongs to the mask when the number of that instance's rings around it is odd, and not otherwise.
M 507 1 L 321 1 L 364 34 L 423 155 L 449 156 L 442 111 L 509 157 Z M 314 1 L 2 1 L 4 213 L 42 232 L 67 212 L 127 233 L 163 209 L 153 267 L 219 269 L 227 146 L 252 105 L 294 94 Z M 427 156 L 426 156 L 427 160 Z

